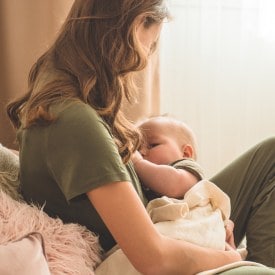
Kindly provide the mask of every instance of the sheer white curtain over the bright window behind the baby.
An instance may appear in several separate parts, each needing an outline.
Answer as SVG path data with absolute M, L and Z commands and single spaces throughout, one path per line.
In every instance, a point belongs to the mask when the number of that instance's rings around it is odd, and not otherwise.
M 275 134 L 275 1 L 170 1 L 161 113 L 187 122 L 213 175 Z

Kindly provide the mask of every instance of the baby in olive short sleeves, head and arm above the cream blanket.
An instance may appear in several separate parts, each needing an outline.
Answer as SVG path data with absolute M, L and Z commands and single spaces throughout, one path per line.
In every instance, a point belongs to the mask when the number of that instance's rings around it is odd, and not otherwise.
M 138 126 L 144 136 L 139 150 L 143 158 L 136 153 L 133 162 L 147 198 L 151 200 L 161 195 L 182 198 L 187 190 L 204 178 L 203 170 L 196 162 L 197 142 L 192 129 L 167 116 L 146 119 Z M 158 165 L 155 166 L 157 174 L 148 173 L 153 166 L 140 162 L 142 159 Z M 184 171 L 175 173 L 167 165 Z

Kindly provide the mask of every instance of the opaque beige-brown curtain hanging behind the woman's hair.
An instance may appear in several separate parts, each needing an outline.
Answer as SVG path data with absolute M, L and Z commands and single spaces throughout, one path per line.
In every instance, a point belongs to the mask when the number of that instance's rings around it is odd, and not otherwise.
M 5 106 L 26 91 L 32 64 L 55 38 L 72 3 L 73 0 L 0 1 L 0 143 L 4 146 L 17 148 Z M 125 106 L 133 121 L 158 112 L 157 60 L 156 54 L 148 68 L 137 74 L 138 102 Z

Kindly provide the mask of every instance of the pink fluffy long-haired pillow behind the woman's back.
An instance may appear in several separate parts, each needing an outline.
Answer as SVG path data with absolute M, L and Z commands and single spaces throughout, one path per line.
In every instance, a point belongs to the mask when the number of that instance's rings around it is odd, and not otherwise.
M 13 200 L 0 190 L 0 244 L 39 232 L 51 274 L 93 275 L 101 261 L 98 238 L 86 227 L 64 224 L 41 209 Z

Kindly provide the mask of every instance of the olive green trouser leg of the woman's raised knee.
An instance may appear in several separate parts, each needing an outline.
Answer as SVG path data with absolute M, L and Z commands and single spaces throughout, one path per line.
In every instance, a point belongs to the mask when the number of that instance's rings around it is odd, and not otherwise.
M 238 245 L 246 235 L 247 260 L 275 267 L 275 137 L 243 154 L 211 178 L 231 198 Z

